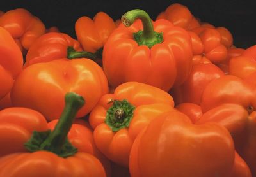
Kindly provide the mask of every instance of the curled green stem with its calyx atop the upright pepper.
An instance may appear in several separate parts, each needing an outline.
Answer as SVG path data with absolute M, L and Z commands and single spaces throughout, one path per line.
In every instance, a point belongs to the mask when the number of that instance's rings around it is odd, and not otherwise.
M 151 48 L 157 43 L 163 42 L 163 34 L 154 31 L 152 20 L 145 11 L 140 9 L 131 10 L 121 18 L 125 27 L 131 26 L 137 19 L 140 19 L 143 24 L 143 31 L 134 33 L 134 40 L 138 45 L 147 45 Z

